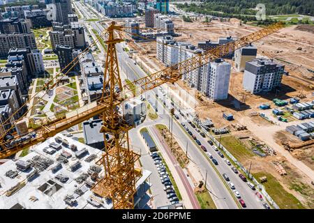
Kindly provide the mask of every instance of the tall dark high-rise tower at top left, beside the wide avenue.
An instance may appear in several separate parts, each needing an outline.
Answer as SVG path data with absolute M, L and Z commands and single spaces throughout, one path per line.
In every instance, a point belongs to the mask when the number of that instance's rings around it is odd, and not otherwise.
M 56 21 L 63 24 L 69 24 L 68 15 L 73 14 L 70 0 L 52 0 L 56 6 Z

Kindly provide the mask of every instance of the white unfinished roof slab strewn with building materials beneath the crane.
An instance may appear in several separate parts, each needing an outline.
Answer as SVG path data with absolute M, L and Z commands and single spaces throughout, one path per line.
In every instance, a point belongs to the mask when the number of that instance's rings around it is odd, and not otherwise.
M 62 141 L 56 140 L 61 139 Z M 69 146 L 65 146 L 68 144 Z M 73 152 L 69 147 L 76 146 L 77 151 L 86 150 L 86 153 L 80 155 Z M 57 151 L 54 148 L 57 148 Z M 44 151 L 45 150 L 45 151 Z M 61 156 L 61 153 L 63 156 Z M 87 182 L 94 183 L 91 180 L 90 175 L 91 167 L 96 166 L 96 161 L 100 159 L 102 151 L 81 144 L 71 138 L 65 137 L 62 134 L 57 134 L 55 137 L 51 137 L 44 141 L 42 144 L 33 146 L 30 153 L 19 160 L 8 160 L 7 162 L 0 165 L 0 176 L 1 176 L 1 195 L 0 195 L 0 208 L 9 209 L 13 207 L 22 207 L 27 209 L 64 209 L 64 208 L 75 208 L 75 209 L 109 209 L 112 208 L 112 202 L 110 199 L 104 199 L 98 197 L 94 192 L 91 192 Z M 68 158 L 65 158 L 68 156 Z M 78 156 L 78 157 L 77 157 Z M 68 163 L 61 164 L 61 168 L 54 168 L 59 164 L 60 157 L 63 160 L 68 160 Z M 91 157 L 94 157 L 92 159 Z M 17 169 L 17 164 L 25 164 L 27 161 L 31 161 L 31 167 L 26 171 Z M 77 168 L 70 168 L 76 162 L 80 162 Z M 103 175 L 103 166 L 100 167 L 100 175 Z M 30 177 L 37 169 L 38 174 L 34 174 Z M 52 171 L 55 169 L 55 171 Z M 16 172 L 13 172 L 16 171 Z M 14 176 L 10 178 L 7 175 Z M 56 176 L 63 174 L 63 177 L 68 180 L 61 183 Z M 140 186 L 149 175 L 150 171 L 143 170 L 142 178 L 137 182 L 136 187 Z M 17 176 L 15 176 L 17 175 Z M 20 190 L 7 196 L 6 192 L 10 188 L 21 183 Z M 73 200 L 76 203 L 73 206 L 68 205 L 63 199 L 67 196 L 73 195 Z M 92 201 L 90 200 L 92 199 Z M 92 204 L 94 203 L 94 205 Z

